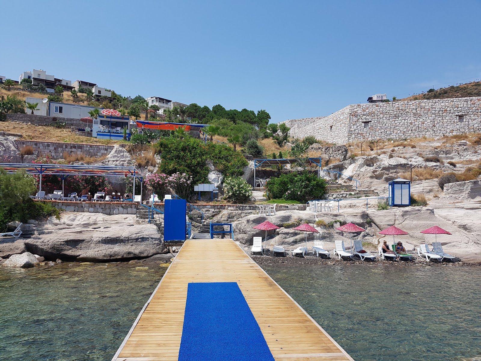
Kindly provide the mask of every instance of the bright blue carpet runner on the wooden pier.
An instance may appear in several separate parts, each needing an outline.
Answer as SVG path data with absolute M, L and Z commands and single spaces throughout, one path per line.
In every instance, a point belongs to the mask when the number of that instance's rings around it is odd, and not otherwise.
M 235 282 L 190 283 L 179 361 L 274 361 Z

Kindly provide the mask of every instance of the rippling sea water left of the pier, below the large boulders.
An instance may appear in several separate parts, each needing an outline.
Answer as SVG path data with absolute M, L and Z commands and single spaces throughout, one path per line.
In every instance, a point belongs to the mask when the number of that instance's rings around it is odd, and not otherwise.
M 0 268 L 0 360 L 110 360 L 164 272 L 124 263 Z

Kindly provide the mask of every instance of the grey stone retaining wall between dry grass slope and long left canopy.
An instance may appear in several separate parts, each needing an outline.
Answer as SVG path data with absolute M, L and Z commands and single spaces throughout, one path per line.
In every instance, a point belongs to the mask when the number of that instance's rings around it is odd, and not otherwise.
M 15 140 L 17 148 L 23 148 L 25 145 L 30 145 L 33 148 L 34 155 L 38 156 L 51 154 L 54 159 L 63 158 L 63 152 L 69 154 L 83 154 L 88 157 L 100 157 L 109 155 L 114 149 L 114 145 L 101 144 L 84 144 L 84 143 L 58 143 L 58 142 L 39 142 L 39 141 L 25 141 Z

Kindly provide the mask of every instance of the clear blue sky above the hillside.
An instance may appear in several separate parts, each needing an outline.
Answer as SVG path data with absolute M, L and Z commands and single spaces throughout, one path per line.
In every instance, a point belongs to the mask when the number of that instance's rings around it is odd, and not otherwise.
M 0 75 L 43 69 L 274 122 L 481 78 L 479 0 L 19 0 L 1 14 Z

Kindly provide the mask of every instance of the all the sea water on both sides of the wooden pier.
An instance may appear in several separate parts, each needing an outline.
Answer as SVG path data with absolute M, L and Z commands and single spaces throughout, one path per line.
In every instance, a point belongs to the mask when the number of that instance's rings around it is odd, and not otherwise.
M 111 360 L 165 272 L 142 266 L 0 267 L 0 360 Z M 481 356 L 481 268 L 263 267 L 356 361 Z

